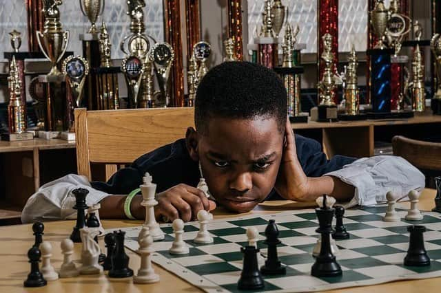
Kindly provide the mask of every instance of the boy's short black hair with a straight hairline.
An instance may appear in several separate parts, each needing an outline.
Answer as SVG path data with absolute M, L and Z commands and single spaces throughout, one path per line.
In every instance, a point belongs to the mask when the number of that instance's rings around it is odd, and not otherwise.
M 277 74 L 249 62 L 224 62 L 207 72 L 196 91 L 196 130 L 209 118 L 276 118 L 280 132 L 287 119 L 287 91 Z

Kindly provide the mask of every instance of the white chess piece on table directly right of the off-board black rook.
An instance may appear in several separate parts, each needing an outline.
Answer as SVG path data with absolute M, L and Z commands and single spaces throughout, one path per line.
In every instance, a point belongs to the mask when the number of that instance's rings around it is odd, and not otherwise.
M 159 275 L 155 274 L 152 267 L 153 238 L 149 234 L 147 227 L 143 227 L 143 230 L 141 230 L 138 236 L 138 253 L 141 254 L 141 267 L 138 270 L 138 274 L 133 277 L 133 283 L 155 283 L 159 281 Z

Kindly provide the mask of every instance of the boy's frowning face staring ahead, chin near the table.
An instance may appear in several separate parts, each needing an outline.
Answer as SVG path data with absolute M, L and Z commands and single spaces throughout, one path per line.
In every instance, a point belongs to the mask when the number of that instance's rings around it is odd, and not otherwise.
M 205 133 L 196 137 L 194 154 L 219 204 L 243 213 L 267 197 L 276 182 L 283 149 L 275 118 L 210 118 Z

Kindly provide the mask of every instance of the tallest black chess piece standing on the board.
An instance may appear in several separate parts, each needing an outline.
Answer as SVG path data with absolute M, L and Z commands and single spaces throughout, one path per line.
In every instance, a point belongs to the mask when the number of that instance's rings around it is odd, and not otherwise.
M 323 206 L 316 208 L 318 218 L 318 229 L 322 235 L 322 246 L 320 246 L 320 254 L 316 257 L 316 262 L 312 265 L 312 276 L 340 276 L 342 269 L 336 261 L 336 257 L 331 251 L 331 237 L 329 235 L 332 230 L 332 217 L 334 217 L 334 208 L 326 206 L 326 195 L 323 196 Z

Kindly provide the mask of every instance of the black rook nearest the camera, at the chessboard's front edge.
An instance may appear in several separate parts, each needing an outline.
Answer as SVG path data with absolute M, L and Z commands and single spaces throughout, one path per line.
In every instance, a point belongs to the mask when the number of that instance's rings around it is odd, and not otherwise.
M 257 264 L 259 250 L 254 246 L 240 248 L 243 253 L 243 269 L 237 283 L 239 290 L 258 290 L 265 286 Z

